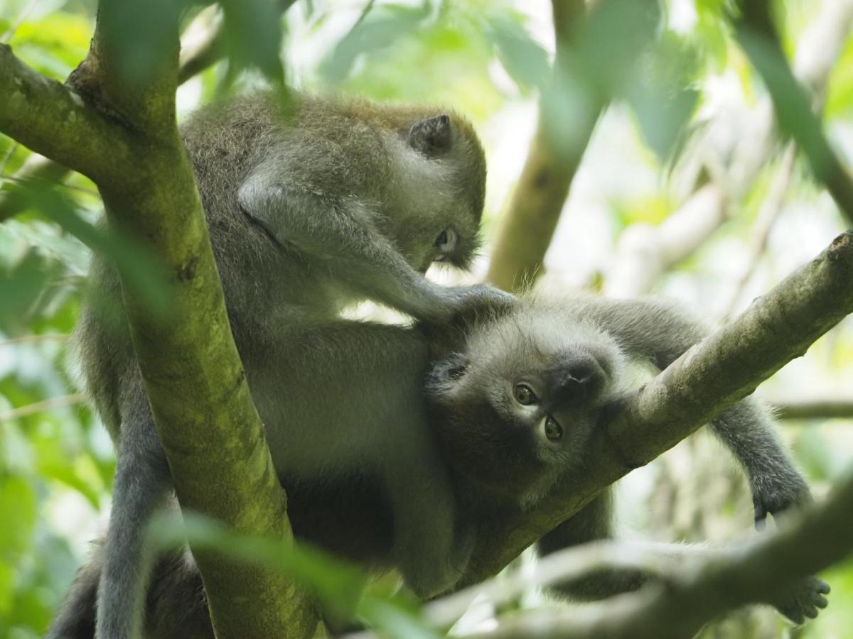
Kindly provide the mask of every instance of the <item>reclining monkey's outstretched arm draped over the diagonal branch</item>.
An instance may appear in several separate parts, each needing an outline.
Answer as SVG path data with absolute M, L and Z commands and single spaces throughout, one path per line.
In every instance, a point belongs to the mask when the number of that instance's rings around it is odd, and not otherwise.
M 660 369 L 710 332 L 681 308 L 653 299 L 585 297 L 572 314 L 601 326 L 629 355 L 648 358 Z M 760 401 L 740 400 L 720 413 L 711 429 L 746 469 L 757 524 L 768 513 L 809 502 L 809 488 L 781 446 L 774 420 Z

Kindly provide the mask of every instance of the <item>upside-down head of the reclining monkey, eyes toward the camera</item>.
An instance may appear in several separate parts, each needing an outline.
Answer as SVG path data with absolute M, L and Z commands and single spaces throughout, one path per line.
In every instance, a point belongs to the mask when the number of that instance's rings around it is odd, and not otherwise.
M 558 304 L 522 298 L 474 322 L 427 377 L 444 459 L 497 498 L 535 504 L 581 460 L 621 394 L 623 362 L 612 337 L 561 316 Z

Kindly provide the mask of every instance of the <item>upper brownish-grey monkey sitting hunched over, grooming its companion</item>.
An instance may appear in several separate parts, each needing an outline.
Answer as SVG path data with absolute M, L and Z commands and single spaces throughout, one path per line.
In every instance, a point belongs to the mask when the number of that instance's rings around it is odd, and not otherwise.
M 305 94 L 281 101 L 260 92 L 202 108 L 181 133 L 247 377 L 258 377 L 252 370 L 265 335 L 335 318 L 352 302 L 371 299 L 441 320 L 508 298 L 487 285 L 445 288 L 424 277 L 433 262 L 466 268 L 478 247 L 485 156 L 464 118 L 432 107 Z M 148 572 L 143 532 L 168 499 L 171 475 L 117 304 L 118 275 L 102 256 L 93 257 L 90 291 L 75 335 L 78 359 L 118 452 L 96 634 L 134 637 Z M 410 459 L 403 448 L 397 463 L 432 472 L 431 456 L 418 463 L 416 446 L 427 444 L 405 443 Z M 364 453 L 330 444 L 311 473 L 335 473 Z M 399 550 L 403 574 L 429 596 L 456 573 L 438 561 L 452 554 L 452 502 L 441 494 L 447 482 L 436 471 L 430 516 L 444 533 L 427 538 L 394 461 L 383 470 L 396 489 L 398 536 L 407 546 Z

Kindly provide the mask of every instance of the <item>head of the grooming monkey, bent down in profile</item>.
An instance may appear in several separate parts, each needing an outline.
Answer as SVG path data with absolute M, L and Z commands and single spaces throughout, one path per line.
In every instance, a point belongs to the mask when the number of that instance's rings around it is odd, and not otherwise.
M 398 132 L 406 148 L 399 210 L 408 214 L 397 220 L 395 241 L 421 272 L 436 262 L 468 268 L 485 202 L 485 153 L 473 126 L 438 112 L 409 118 Z

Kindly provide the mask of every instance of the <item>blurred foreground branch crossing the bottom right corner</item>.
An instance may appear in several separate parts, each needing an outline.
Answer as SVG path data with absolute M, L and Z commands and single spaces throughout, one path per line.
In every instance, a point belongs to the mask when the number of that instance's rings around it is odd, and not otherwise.
M 766 533 L 740 548 L 697 553 L 693 566 L 667 571 L 664 584 L 653 584 L 583 608 L 522 613 L 515 619 L 502 621 L 495 630 L 468 637 L 693 636 L 717 614 L 747 603 L 774 601 L 784 596 L 797 579 L 818 573 L 849 556 L 853 550 L 851 511 L 853 475 L 848 475 L 823 504 L 805 511 L 798 521 L 791 522 L 793 525 L 786 525 L 778 533 Z M 577 552 L 582 554 L 583 550 L 582 547 Z

